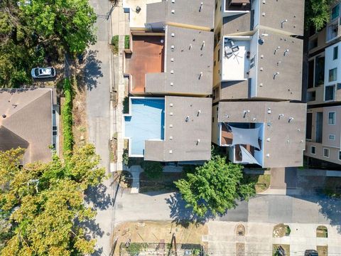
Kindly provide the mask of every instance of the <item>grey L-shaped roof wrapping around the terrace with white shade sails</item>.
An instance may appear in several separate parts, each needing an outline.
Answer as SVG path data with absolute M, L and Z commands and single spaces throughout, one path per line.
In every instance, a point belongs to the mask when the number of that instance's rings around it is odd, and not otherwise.
M 264 168 L 302 166 L 305 115 L 303 103 L 219 102 L 218 106 L 218 122 L 264 123 Z

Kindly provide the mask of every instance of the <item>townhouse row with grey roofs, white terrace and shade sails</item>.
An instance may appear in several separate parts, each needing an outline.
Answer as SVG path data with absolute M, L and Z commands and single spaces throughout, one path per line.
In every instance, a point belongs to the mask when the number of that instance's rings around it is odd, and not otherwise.
M 303 0 L 215 1 L 212 142 L 234 163 L 302 166 Z

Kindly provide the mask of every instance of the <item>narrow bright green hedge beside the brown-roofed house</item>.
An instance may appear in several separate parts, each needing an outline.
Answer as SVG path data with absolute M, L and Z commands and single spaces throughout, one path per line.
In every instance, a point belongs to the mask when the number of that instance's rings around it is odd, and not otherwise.
M 73 148 L 73 134 L 72 134 L 72 85 L 68 78 L 64 80 L 64 95 L 65 101 L 62 108 L 63 120 L 63 152 L 64 156 L 70 156 Z

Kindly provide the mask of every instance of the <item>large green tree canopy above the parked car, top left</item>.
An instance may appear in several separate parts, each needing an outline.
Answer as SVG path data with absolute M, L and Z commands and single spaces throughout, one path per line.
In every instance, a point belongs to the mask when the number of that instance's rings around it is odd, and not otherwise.
M 96 41 L 87 0 L 0 1 L 0 87 L 31 84 L 31 68 Z

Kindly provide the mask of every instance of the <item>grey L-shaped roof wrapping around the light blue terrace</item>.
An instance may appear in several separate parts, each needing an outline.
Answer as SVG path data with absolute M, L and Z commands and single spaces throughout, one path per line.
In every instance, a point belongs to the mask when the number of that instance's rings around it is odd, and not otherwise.
M 146 141 L 144 159 L 210 159 L 212 99 L 166 96 L 164 141 Z

